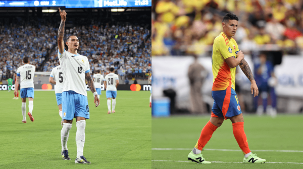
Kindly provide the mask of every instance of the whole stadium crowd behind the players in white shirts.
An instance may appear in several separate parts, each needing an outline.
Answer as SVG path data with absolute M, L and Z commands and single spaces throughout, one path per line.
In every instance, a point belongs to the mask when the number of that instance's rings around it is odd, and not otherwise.
M 59 65 L 57 20 L 52 18 L 0 24 L 0 81 L 13 76 L 23 56 L 30 58 L 36 71 L 52 71 Z M 58 26 L 59 27 L 59 26 Z M 151 33 L 136 24 L 93 24 L 66 27 L 66 35 L 77 35 L 79 54 L 87 56 L 91 70 L 106 75 L 114 66 L 120 75 L 147 77 L 151 71 Z M 47 52 L 49 52 L 47 54 Z M 45 60 L 46 59 L 46 60 Z M 146 75 L 145 75 L 146 73 Z

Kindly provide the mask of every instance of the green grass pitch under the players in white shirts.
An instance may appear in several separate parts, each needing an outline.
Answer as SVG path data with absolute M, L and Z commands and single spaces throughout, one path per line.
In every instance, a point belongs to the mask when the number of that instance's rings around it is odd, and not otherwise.
M 150 168 L 150 92 L 118 91 L 116 113 L 107 114 L 105 91 L 95 108 L 88 94 L 90 119 L 86 120 L 83 155 L 91 164 L 75 164 L 76 121 L 67 147 L 71 160 L 61 157 L 61 118 L 54 91 L 35 91 L 33 117 L 22 123 L 21 99 L 14 91 L 0 91 L 0 168 Z M 28 100 L 27 100 L 28 112 Z

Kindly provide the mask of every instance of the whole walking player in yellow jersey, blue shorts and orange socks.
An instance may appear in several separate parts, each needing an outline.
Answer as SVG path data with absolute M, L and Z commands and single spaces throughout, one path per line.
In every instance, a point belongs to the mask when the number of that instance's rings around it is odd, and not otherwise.
M 196 145 L 188 154 L 187 158 L 193 162 L 211 163 L 204 159 L 201 150 L 211 139 L 214 131 L 222 125 L 224 119 L 230 119 L 232 122 L 233 134 L 244 154 L 243 163 L 264 163 L 266 161 L 249 150 L 243 127 L 243 115 L 234 90 L 236 66 L 239 65 L 251 82 L 251 94 L 254 94 L 254 97 L 259 94 L 256 81 L 244 55 L 242 51 L 239 51 L 236 41 L 232 38 L 237 31 L 238 20 L 235 14 L 226 14 L 222 21 L 223 32 L 214 40 L 212 53 L 214 105 L 210 121 L 204 126 Z

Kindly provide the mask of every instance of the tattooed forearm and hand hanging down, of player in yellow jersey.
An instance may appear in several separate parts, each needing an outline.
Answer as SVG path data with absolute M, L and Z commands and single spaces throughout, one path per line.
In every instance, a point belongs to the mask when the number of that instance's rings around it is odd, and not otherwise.
M 251 82 L 251 85 L 250 85 L 251 94 L 254 93 L 254 97 L 258 96 L 259 95 L 259 89 L 257 87 L 254 75 L 252 75 L 252 72 L 251 72 L 250 67 L 249 67 L 248 63 L 246 62 L 246 60 L 242 59 L 239 66 L 242 69 L 243 73 L 246 75 L 246 77 Z

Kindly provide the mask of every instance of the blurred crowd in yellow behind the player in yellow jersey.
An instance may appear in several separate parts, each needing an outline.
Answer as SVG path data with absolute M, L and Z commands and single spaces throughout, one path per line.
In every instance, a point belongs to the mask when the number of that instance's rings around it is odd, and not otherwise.
M 303 48 L 303 2 L 286 1 L 155 1 L 152 7 L 152 55 L 203 54 L 222 31 L 222 17 L 239 17 L 234 39 L 249 52 L 267 45 L 296 53 Z

